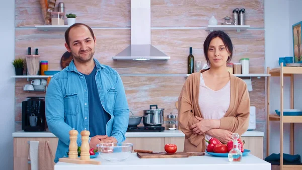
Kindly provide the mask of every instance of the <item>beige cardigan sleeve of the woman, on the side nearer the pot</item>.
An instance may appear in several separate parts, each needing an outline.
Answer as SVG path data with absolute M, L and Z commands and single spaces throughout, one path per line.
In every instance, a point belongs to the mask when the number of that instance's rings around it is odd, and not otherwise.
M 197 147 L 199 143 L 202 143 L 205 133 L 198 135 L 194 134 L 192 130 L 189 129 L 190 126 L 198 123 L 199 121 L 195 118 L 195 115 L 192 112 L 193 106 L 190 99 L 190 88 L 187 88 L 188 84 L 188 82 L 185 83 L 178 98 L 178 123 L 181 131 L 189 141 Z

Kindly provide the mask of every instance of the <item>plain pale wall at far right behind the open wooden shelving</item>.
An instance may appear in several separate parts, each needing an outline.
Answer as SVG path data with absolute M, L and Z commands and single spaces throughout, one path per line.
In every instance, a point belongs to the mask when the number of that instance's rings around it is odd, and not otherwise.
M 302 21 L 299 7 L 300 0 L 265 0 L 264 1 L 264 23 L 265 23 L 265 65 L 266 67 L 279 67 L 279 57 L 292 56 L 292 32 L 291 25 Z M 299 15 L 298 15 L 299 14 Z M 301 87 L 297 83 L 301 77 L 294 76 L 294 108 L 302 109 Z M 289 96 L 290 81 L 284 81 L 284 109 L 290 108 Z M 270 114 L 275 114 L 275 109 L 280 109 L 280 78 L 271 77 L 270 81 Z M 280 153 L 280 124 L 270 122 L 270 152 Z M 302 155 L 302 148 L 297 142 L 302 142 L 302 135 L 297 133 L 301 126 L 295 124 L 295 154 Z M 284 126 L 283 152 L 289 153 L 289 125 Z

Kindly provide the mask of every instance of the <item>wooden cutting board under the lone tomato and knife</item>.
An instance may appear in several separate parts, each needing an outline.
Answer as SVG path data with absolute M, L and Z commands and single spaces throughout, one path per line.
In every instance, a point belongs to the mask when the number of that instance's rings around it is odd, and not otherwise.
M 203 156 L 204 155 L 204 152 L 192 152 L 192 153 L 175 152 L 174 154 L 168 154 L 166 152 L 163 152 L 163 153 L 165 153 L 165 154 L 137 152 L 136 155 L 139 158 L 174 158 L 174 157 L 189 157 L 189 156 Z

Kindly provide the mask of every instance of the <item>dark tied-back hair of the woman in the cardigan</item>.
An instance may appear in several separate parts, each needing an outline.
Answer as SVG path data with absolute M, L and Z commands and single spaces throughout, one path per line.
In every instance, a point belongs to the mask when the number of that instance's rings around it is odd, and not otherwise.
M 231 38 L 229 37 L 228 34 L 226 34 L 223 31 L 213 31 L 205 38 L 204 43 L 203 43 L 203 53 L 204 53 L 204 56 L 205 56 L 206 63 L 208 65 L 210 64 L 210 60 L 208 58 L 207 51 L 209 49 L 209 45 L 210 45 L 211 40 L 216 38 L 216 37 L 221 38 L 223 44 L 225 45 L 226 49 L 228 49 L 228 52 L 230 53 L 228 61 L 226 61 L 226 62 L 229 63 L 232 60 L 233 44 L 232 44 Z

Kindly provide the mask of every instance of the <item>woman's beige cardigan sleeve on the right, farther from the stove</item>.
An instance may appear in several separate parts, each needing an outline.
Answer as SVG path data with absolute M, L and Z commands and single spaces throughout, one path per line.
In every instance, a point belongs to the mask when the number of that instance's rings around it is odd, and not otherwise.
M 234 115 L 230 115 L 229 117 L 221 118 L 219 128 L 238 133 L 240 136 L 248 130 L 250 116 L 250 96 L 246 84 L 243 89 L 244 91 L 235 112 L 235 117 Z

